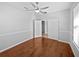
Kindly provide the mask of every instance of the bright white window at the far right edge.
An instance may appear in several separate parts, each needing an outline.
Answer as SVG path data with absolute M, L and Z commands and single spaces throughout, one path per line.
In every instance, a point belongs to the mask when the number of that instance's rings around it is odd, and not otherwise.
M 79 5 L 74 8 L 74 42 L 79 47 Z

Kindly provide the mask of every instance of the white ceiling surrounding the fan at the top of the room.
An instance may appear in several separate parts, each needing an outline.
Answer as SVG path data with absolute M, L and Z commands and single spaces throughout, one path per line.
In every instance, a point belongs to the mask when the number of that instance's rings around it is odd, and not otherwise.
M 30 2 L 6 2 L 6 4 L 22 11 L 25 11 L 24 7 L 33 8 Z M 56 12 L 72 8 L 76 4 L 76 2 L 40 2 L 39 7 L 49 6 L 47 12 Z

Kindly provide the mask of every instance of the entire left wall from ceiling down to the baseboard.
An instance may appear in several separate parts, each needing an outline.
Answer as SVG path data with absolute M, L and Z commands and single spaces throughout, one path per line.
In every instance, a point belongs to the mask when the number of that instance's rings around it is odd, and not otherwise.
M 31 37 L 32 13 L 0 3 L 0 50 Z

